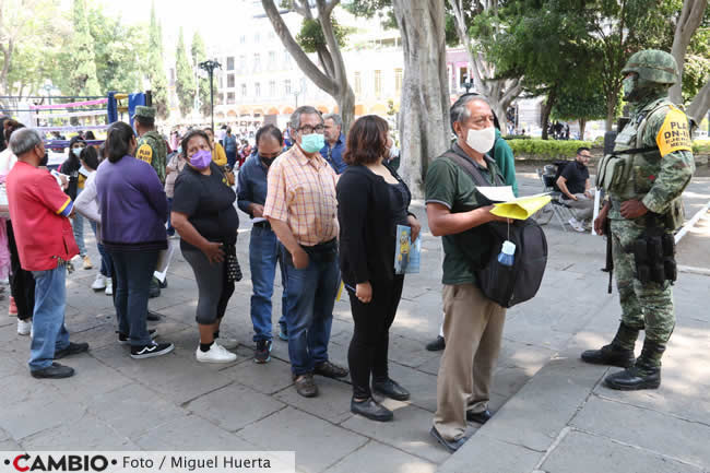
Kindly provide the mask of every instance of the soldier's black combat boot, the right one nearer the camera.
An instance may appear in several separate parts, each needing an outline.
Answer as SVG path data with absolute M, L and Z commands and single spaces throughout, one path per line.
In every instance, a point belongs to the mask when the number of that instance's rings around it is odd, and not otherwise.
M 665 344 L 646 339 L 641 356 L 636 360 L 636 365 L 624 371 L 607 376 L 604 383 L 607 388 L 620 391 L 656 389 L 661 386 L 661 356 L 663 356 L 663 352 L 665 352 Z

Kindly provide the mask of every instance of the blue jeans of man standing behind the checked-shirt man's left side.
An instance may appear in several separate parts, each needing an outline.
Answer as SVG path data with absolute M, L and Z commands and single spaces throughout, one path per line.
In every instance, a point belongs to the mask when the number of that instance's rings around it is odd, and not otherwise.
M 253 226 L 249 240 L 249 267 L 251 268 L 251 323 L 253 323 L 253 341 L 273 339 L 271 329 L 271 296 L 274 293 L 274 276 L 276 263 L 281 268 L 281 319 L 279 323 L 286 327 L 286 280 L 283 260 L 276 234 L 270 228 Z

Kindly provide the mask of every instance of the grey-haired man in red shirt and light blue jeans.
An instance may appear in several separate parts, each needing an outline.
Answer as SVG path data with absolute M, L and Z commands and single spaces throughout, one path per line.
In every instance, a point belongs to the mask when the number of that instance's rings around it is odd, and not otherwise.
M 8 174 L 10 216 L 20 264 L 35 276 L 29 373 L 35 378 L 68 378 L 74 369 L 55 359 L 83 353 L 87 343 L 72 343 L 64 326 L 67 262 L 79 253 L 69 217 L 73 203 L 39 163 L 45 145 L 37 131 L 23 128 L 10 139 L 17 164 Z

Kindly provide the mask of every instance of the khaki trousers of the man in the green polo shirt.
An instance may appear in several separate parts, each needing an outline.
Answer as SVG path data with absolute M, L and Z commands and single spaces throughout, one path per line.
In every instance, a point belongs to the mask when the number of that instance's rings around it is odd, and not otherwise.
M 488 407 L 506 309 L 473 284 L 443 285 L 443 338 L 434 426 L 447 440 L 466 429 L 466 411 Z

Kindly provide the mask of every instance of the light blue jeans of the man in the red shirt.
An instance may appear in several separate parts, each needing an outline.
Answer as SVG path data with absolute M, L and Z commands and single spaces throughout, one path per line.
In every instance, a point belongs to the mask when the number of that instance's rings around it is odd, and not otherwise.
M 33 271 L 35 276 L 35 310 L 32 328 L 34 336 L 29 345 L 32 371 L 51 366 L 55 352 L 69 346 L 69 332 L 64 326 L 67 304 L 67 267 Z

